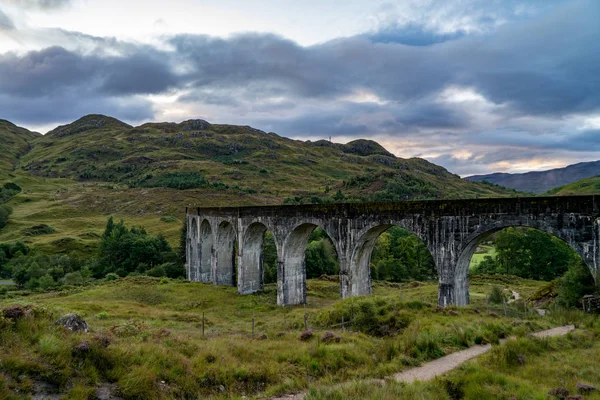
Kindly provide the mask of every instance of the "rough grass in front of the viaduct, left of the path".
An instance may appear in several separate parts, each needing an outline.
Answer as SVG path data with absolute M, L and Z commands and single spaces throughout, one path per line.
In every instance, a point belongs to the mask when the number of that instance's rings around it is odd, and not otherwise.
M 509 282 L 508 287 L 523 293 L 540 285 L 520 279 Z M 33 305 L 36 318 L 0 329 L 0 362 L 6 371 L 0 375 L 0 395 L 3 386 L 28 390 L 39 381 L 59 385 L 63 393 L 71 391 L 72 398 L 83 398 L 76 394 L 89 393 L 107 381 L 118 383 L 126 398 L 274 394 L 309 384 L 384 377 L 472 345 L 477 337 L 494 341 L 498 335 L 521 336 L 556 323 L 512 308 L 514 317 L 504 317 L 502 309 L 493 309 L 498 315 L 488 315 L 485 294 L 497 283 L 475 279 L 473 304 L 453 316 L 431 305 L 436 303 L 435 284 L 405 286 L 400 299 L 397 285 L 376 283 L 373 296 L 339 300 L 337 282 L 310 280 L 306 311 L 316 337 L 329 321 L 340 318 L 342 310 L 347 321 L 366 303 L 375 305 L 381 318 L 394 316 L 408 323 L 390 337 L 338 328 L 342 339 L 337 344 L 317 338 L 300 341 L 303 308 L 278 307 L 274 286 L 264 293 L 239 296 L 233 288 L 176 281 L 161 284 L 139 277 L 71 293 L 16 297 L 0 301 L 0 307 L 16 302 Z M 418 302 L 410 303 L 421 299 L 429 304 L 423 309 L 414 308 Z M 476 313 L 476 308 L 481 312 Z M 67 312 L 81 314 L 92 335 L 71 334 L 51 325 Z M 262 334 L 267 338 L 258 340 Z M 98 336 L 110 339 L 108 349 L 95 347 Z M 83 339 L 93 347 L 84 360 L 73 352 Z M 20 375 L 26 379 L 16 379 Z

